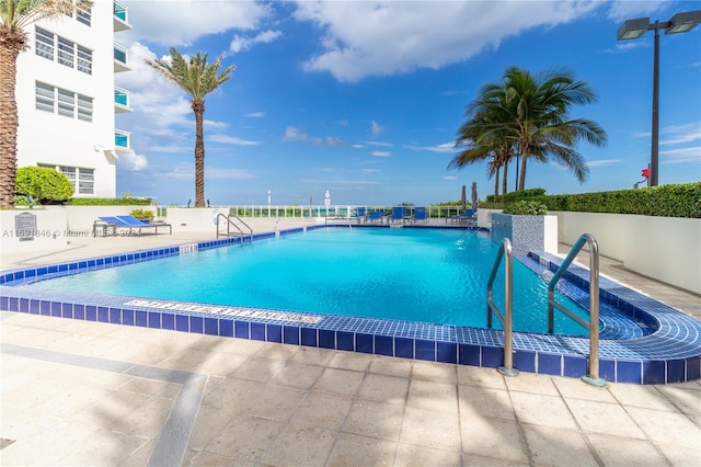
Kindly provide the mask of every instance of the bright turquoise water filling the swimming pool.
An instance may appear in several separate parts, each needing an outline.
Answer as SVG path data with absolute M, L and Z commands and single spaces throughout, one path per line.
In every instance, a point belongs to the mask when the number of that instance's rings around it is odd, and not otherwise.
M 498 247 L 455 229 L 330 228 L 34 283 L 61 291 L 486 326 Z M 494 296 L 503 309 L 503 266 Z M 514 328 L 547 332 L 547 284 L 514 262 Z M 564 296 L 559 301 L 586 315 Z M 498 322 L 494 319 L 495 327 Z M 560 319 L 560 334 L 582 334 Z

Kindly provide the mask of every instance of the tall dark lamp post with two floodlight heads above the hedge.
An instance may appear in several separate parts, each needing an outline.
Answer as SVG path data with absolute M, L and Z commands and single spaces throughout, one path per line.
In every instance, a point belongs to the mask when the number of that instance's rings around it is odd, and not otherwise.
M 618 39 L 636 39 L 647 31 L 655 31 L 653 56 L 653 129 L 650 149 L 648 186 L 657 186 L 659 182 L 659 30 L 665 34 L 680 34 L 693 30 L 701 23 L 701 10 L 676 13 L 669 21 L 650 22 L 650 18 L 625 21 L 618 29 Z

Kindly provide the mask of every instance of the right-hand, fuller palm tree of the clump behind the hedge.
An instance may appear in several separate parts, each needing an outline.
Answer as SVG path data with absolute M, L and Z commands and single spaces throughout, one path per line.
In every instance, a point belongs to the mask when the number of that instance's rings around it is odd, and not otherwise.
M 526 186 L 529 159 L 554 160 L 572 170 L 582 183 L 588 174 L 575 146 L 581 139 L 602 147 L 606 132 L 586 118 L 570 119 L 570 107 L 596 102 L 596 93 L 585 81 L 576 81 L 566 70 L 533 77 L 528 70 L 509 67 L 504 75 L 505 103 L 514 115 L 510 123 L 521 169 L 518 190 Z M 518 169 L 517 169 L 518 170 Z

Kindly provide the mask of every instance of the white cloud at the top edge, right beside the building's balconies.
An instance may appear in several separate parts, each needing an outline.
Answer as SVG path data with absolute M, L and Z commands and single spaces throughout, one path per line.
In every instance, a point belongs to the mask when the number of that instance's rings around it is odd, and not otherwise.
M 150 0 L 124 1 L 133 29 L 119 33 L 131 41 L 164 46 L 191 45 L 199 37 L 231 30 L 254 30 L 272 14 L 255 1 Z

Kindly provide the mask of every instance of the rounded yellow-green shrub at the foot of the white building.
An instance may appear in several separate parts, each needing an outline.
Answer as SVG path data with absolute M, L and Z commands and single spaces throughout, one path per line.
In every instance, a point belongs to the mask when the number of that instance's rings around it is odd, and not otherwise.
M 50 167 L 21 167 L 14 180 L 18 195 L 31 195 L 42 204 L 60 203 L 73 195 L 68 176 Z

